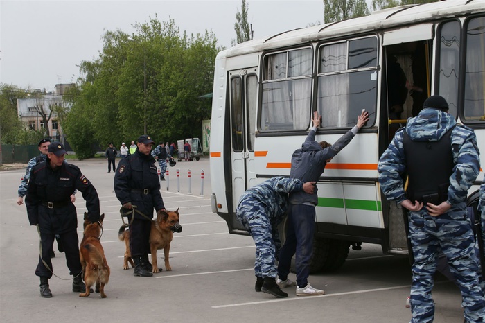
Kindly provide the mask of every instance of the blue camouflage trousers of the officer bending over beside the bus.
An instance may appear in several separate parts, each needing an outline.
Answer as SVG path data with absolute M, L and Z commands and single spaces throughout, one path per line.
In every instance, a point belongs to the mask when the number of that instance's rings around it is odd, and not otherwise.
M 272 237 L 272 225 L 261 202 L 245 201 L 238 207 L 236 218 L 251 234 L 256 245 L 254 274 L 256 277 L 276 278 L 276 247 Z

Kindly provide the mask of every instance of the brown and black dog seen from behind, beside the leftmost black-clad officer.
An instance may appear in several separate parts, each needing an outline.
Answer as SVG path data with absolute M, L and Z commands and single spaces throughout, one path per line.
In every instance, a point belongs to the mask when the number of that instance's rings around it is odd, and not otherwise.
M 82 237 L 79 248 L 82 272 L 85 275 L 86 293 L 80 293 L 80 297 L 89 296 L 89 288 L 96 283 L 96 292 L 99 291 L 101 297 L 105 298 L 105 285 L 109 281 L 109 266 L 105 257 L 105 250 L 99 238 L 103 229 L 105 215 L 101 214 L 98 222 L 91 223 L 85 213 L 84 236 Z

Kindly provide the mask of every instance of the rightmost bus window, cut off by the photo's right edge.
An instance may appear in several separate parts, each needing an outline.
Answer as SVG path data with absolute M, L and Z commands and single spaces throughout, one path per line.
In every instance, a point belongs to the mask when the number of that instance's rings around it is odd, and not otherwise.
M 464 119 L 485 121 L 485 17 L 466 24 L 466 71 Z

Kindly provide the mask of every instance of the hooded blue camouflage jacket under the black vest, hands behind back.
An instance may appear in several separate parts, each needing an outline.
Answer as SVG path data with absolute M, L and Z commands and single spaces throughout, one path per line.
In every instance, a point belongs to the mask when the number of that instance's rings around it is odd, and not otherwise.
M 404 132 L 407 132 L 413 141 L 439 141 L 456 124 L 452 114 L 425 108 L 418 116 L 409 118 L 405 128 L 396 132 L 378 163 L 380 188 L 388 200 L 400 203 L 406 199 L 404 181 L 401 177 L 406 171 Z M 447 202 L 454 205 L 466 200 L 468 189 L 479 174 L 480 160 L 475 132 L 464 125 L 457 125 L 451 133 L 450 149 L 455 166 L 450 176 Z

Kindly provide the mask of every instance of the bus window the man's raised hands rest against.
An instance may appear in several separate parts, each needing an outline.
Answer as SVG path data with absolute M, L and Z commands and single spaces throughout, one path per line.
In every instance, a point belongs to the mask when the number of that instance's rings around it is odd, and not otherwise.
M 328 44 L 319 50 L 317 106 L 321 128 L 351 128 L 365 109 L 376 121 L 377 38 Z

